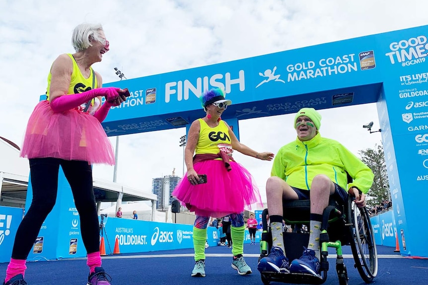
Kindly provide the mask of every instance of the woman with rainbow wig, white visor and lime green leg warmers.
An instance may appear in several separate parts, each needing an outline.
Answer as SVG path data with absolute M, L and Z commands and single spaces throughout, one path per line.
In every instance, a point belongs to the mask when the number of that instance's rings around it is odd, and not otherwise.
M 206 116 L 192 122 L 187 135 L 184 160 L 187 173 L 172 192 L 190 211 L 195 212 L 193 246 L 195 267 L 193 277 L 205 277 L 205 240 L 210 217 L 230 215 L 232 268 L 239 275 L 251 274 L 242 256 L 245 224 L 243 211 L 254 203 L 261 203 L 254 178 L 232 157 L 233 150 L 261 160 L 271 161 L 271 152 L 258 153 L 240 143 L 221 115 L 232 101 L 224 91 L 214 88 L 200 97 Z M 195 156 L 194 156 L 195 154 Z M 206 181 L 199 175 L 207 175 Z

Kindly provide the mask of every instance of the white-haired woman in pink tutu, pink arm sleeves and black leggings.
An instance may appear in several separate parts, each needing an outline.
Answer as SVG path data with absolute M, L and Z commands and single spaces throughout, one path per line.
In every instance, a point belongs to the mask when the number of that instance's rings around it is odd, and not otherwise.
M 92 64 L 109 51 L 101 25 L 80 24 L 72 34 L 74 54 L 60 55 L 48 74 L 47 99 L 31 114 L 21 157 L 29 159 L 33 200 L 15 236 L 3 285 L 26 285 L 25 261 L 40 227 L 55 205 L 58 172 L 70 183 L 87 251 L 88 284 L 109 285 L 101 267 L 99 225 L 92 186 L 95 163 L 114 164 L 114 153 L 101 122 L 112 106 L 126 100 L 126 90 L 102 88 Z M 101 98 L 106 101 L 101 106 Z

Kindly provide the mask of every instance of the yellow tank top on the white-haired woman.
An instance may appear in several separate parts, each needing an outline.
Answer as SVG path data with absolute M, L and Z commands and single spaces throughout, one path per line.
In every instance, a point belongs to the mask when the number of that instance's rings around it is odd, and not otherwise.
M 78 94 L 78 93 L 82 93 L 85 91 L 89 91 L 92 90 L 92 77 L 95 76 L 92 67 L 90 67 L 91 73 L 89 75 L 89 78 L 85 78 L 82 73 L 80 72 L 79 67 L 77 66 L 77 62 L 74 59 L 74 57 L 71 54 L 67 54 L 70 58 L 71 61 L 73 62 L 73 72 L 71 73 L 71 81 L 70 81 L 70 87 L 69 87 L 69 91 L 67 94 Z M 48 75 L 48 88 L 47 88 L 47 92 L 46 92 L 46 96 L 48 97 L 47 99 L 49 100 L 49 89 L 51 88 L 51 78 L 52 78 L 52 74 L 51 72 L 49 72 Z M 94 88 L 97 88 L 98 82 L 97 82 L 97 78 L 95 76 L 95 81 L 94 81 Z M 93 101 L 93 100 L 92 100 Z M 93 102 L 92 102 L 93 104 Z

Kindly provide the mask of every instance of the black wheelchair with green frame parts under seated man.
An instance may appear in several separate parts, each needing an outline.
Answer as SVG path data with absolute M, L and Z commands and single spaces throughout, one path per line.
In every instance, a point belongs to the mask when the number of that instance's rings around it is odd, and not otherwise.
M 320 270 L 321 278 L 309 274 L 291 274 L 281 272 L 261 272 L 263 284 L 271 281 L 292 284 L 323 284 L 327 280 L 329 263 L 328 247 L 336 249 L 336 272 L 339 285 L 348 285 L 348 272 L 344 264 L 342 245 L 350 245 L 355 265 L 365 283 L 373 282 L 377 275 L 377 251 L 374 232 L 371 227 L 368 211 L 365 207 L 358 208 L 355 197 L 349 196 L 347 205 L 340 205 L 330 199 L 329 206 L 324 210 L 320 235 Z M 288 260 L 300 258 L 303 246 L 309 241 L 308 233 L 297 232 L 305 225 L 309 228 L 310 200 L 283 201 L 284 221 L 294 226 L 292 232 L 284 232 L 284 246 Z M 267 223 L 268 209 L 262 213 L 263 232 L 260 241 L 260 257 L 267 256 L 272 248 L 272 234 Z

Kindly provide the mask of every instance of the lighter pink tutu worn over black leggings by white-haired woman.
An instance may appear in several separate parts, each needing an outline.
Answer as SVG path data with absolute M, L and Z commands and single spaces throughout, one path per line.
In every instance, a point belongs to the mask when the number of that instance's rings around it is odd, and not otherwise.
M 21 157 L 60 158 L 114 165 L 114 152 L 100 122 L 78 110 L 54 113 L 44 100 L 31 114 Z

